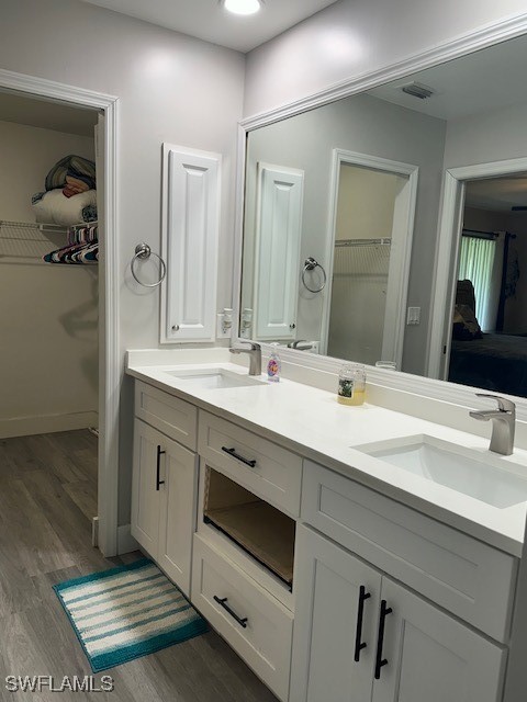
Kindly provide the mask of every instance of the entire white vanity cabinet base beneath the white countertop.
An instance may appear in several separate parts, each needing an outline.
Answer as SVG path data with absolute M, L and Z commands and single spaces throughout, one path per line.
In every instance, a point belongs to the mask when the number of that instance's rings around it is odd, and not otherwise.
M 257 428 L 135 401 L 132 534 L 282 702 L 501 702 L 516 558 Z

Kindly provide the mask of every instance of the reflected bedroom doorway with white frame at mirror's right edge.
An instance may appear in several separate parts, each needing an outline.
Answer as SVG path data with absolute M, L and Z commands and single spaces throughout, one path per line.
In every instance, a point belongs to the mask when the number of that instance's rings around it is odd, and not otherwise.
M 527 159 L 447 171 L 437 259 L 430 376 L 527 397 Z

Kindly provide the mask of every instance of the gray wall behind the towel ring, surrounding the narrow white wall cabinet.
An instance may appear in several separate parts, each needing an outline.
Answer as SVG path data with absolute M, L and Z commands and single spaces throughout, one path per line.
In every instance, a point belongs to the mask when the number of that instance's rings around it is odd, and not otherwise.
M 242 54 L 77 0 L 2 0 L 0 67 L 120 99 L 119 267 L 121 353 L 156 348 L 159 292 L 132 281 L 134 247 L 160 246 L 161 143 L 223 154 L 218 297 L 229 307 L 233 278 L 236 123 Z M 132 383 L 122 392 L 120 523 L 130 521 Z

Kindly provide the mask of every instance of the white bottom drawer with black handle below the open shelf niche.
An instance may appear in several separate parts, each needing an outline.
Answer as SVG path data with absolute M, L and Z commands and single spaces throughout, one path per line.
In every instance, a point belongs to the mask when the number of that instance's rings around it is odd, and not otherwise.
M 192 603 L 274 694 L 287 700 L 291 612 L 199 534 L 193 544 Z

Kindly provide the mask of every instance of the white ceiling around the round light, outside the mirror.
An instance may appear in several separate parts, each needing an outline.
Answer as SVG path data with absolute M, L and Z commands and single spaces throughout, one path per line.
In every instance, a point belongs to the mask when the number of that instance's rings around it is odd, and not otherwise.
M 226 12 L 220 0 L 83 1 L 247 53 L 336 0 L 262 0 L 249 16 Z

